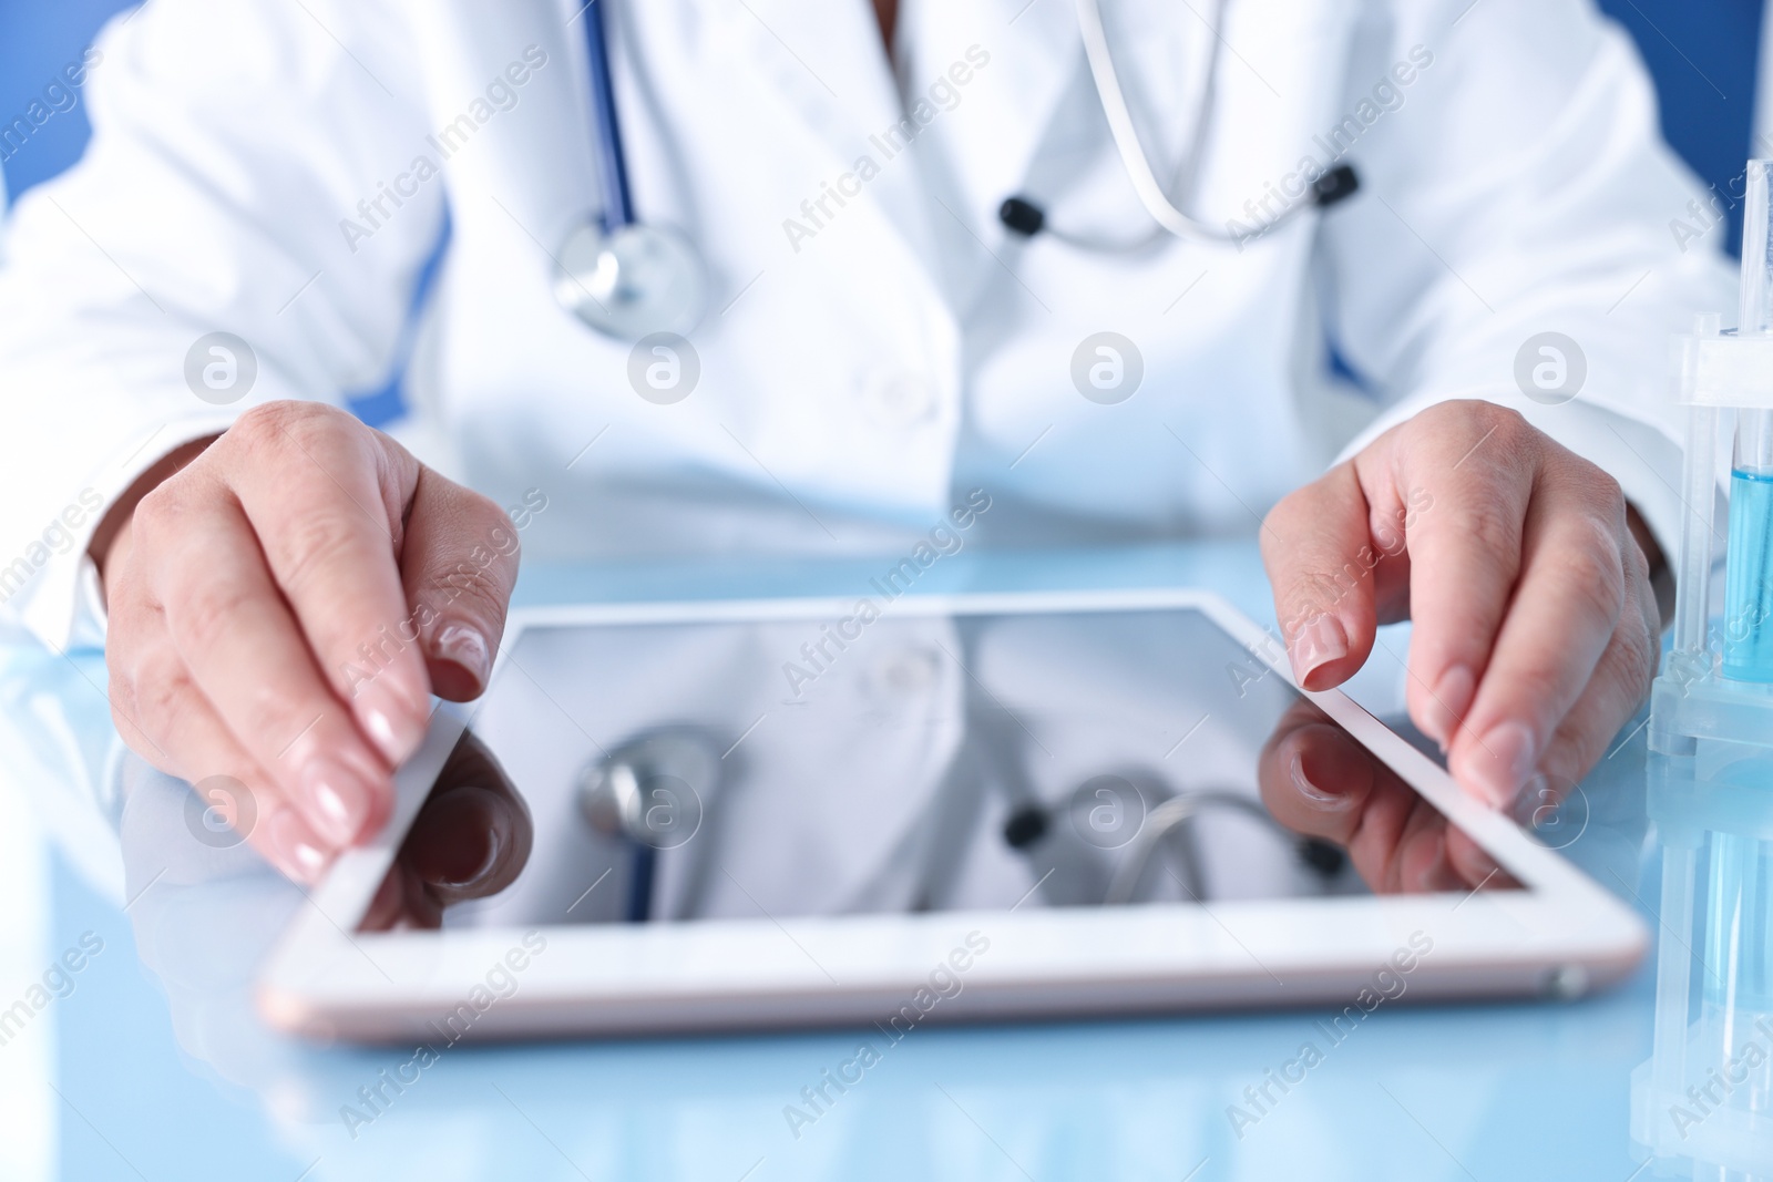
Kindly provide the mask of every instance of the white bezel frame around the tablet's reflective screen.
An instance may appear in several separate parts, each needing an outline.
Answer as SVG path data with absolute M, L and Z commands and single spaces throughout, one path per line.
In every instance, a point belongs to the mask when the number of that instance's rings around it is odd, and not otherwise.
M 1190 608 L 1294 684 L 1271 633 L 1199 590 L 963 594 L 894 604 L 897 615 L 924 617 Z M 849 599 L 525 608 L 511 613 L 505 652 L 525 629 L 543 626 L 817 620 L 849 610 Z M 1512 820 L 1466 797 L 1441 767 L 1344 693 L 1301 693 L 1525 890 L 566 925 L 528 934 L 355 932 L 466 725 L 459 709 L 441 707 L 424 746 L 395 776 L 388 826 L 339 858 L 264 964 L 259 1007 L 275 1026 L 309 1037 L 434 1044 L 468 1033 L 867 1024 L 895 1014 L 906 1014 L 902 1021 L 954 1021 L 1353 1005 L 1376 989 L 1410 998 L 1576 996 L 1640 962 L 1649 934 L 1621 900 Z M 1433 945 L 1425 953 L 1424 941 Z M 989 950 L 975 953 L 979 943 Z M 965 971 L 954 968 L 938 978 L 943 996 L 924 1010 L 933 971 L 961 962 Z M 1385 966 L 1392 966 L 1390 976 L 1376 978 Z M 949 976 L 959 985 L 947 985 Z M 1402 989 L 1392 980 L 1402 980 Z

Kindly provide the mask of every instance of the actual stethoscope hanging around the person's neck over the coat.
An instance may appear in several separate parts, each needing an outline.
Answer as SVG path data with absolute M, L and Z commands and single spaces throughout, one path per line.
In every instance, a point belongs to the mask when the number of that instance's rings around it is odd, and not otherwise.
M 1050 223 L 1046 211 L 1025 195 L 1009 197 L 998 207 L 998 222 L 1019 237 L 1048 234 L 1080 250 L 1138 250 L 1163 234 L 1206 243 L 1234 245 L 1261 237 L 1310 209 L 1328 209 L 1351 197 L 1360 181 L 1355 168 L 1337 165 L 1312 181 L 1277 214 L 1257 218 L 1232 230 L 1207 225 L 1179 209 L 1158 181 L 1138 140 L 1126 90 L 1115 69 L 1108 32 L 1103 27 L 1101 0 L 1076 0 L 1078 27 L 1090 80 L 1108 117 L 1108 131 L 1138 202 L 1158 229 L 1135 241 L 1106 243 L 1066 232 Z M 1225 0 L 1213 21 L 1213 48 L 1207 60 L 1200 126 L 1193 138 L 1197 151 L 1211 115 L 1213 76 L 1218 71 L 1218 28 Z M 555 298 L 596 331 L 617 340 L 640 340 L 651 333 L 688 335 L 707 308 L 707 268 L 695 246 L 676 230 L 637 220 L 628 188 L 628 158 L 622 152 L 621 121 L 615 112 L 615 87 L 610 74 L 610 44 L 603 25 L 603 0 L 585 9 L 585 46 L 590 62 L 590 106 L 596 131 L 598 181 L 603 209 L 596 218 L 574 225 L 555 255 Z

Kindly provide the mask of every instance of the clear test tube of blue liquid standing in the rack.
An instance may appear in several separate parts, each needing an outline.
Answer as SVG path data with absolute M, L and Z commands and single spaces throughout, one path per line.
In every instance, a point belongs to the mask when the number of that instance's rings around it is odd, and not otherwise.
M 1748 161 L 1743 200 L 1739 337 L 1773 335 L 1773 159 Z M 1723 675 L 1773 682 L 1773 409 L 1739 409 L 1730 455 L 1730 540 L 1723 574 Z

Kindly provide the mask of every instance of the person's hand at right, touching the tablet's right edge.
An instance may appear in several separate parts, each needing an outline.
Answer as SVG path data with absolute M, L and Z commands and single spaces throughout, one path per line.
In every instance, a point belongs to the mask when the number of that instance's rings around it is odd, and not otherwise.
M 1619 484 L 1489 402 L 1429 408 L 1289 494 L 1262 558 L 1307 689 L 1355 673 L 1378 624 L 1415 622 L 1410 716 L 1496 808 L 1567 792 L 1656 672 Z

